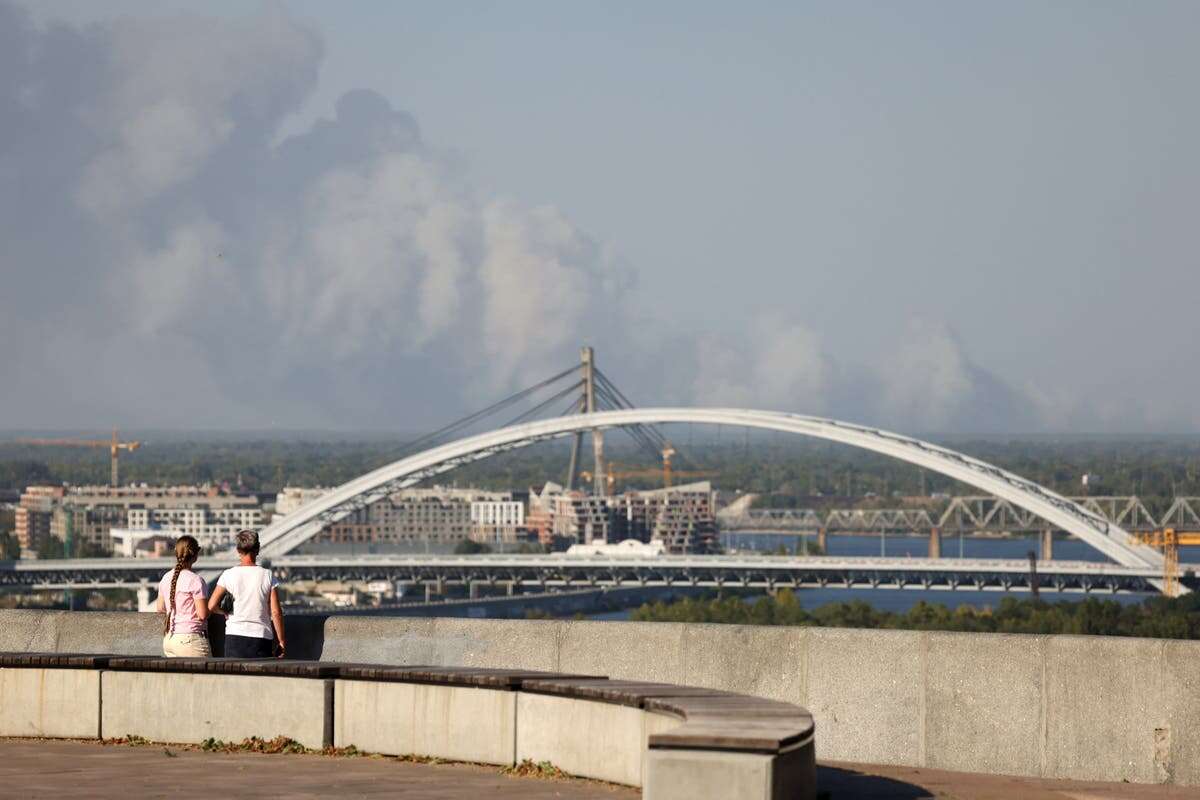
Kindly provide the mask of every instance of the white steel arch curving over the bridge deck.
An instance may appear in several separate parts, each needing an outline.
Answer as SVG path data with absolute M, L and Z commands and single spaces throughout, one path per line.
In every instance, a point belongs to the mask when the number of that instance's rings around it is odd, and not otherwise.
M 283 555 L 317 535 L 328 523 L 426 477 L 498 452 L 524 447 L 578 431 L 631 425 L 694 422 L 796 433 L 862 447 L 924 467 L 1018 505 L 1066 530 L 1124 566 L 1160 567 L 1163 557 L 1124 529 L 1067 498 L 1019 475 L 954 450 L 850 422 L 781 411 L 733 408 L 641 408 L 577 414 L 514 425 L 431 447 L 348 481 L 263 529 L 263 555 Z

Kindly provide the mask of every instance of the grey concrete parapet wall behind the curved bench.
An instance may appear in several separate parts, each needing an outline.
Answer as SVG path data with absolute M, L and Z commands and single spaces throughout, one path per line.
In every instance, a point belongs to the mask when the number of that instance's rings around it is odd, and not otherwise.
M 0 612 L 0 650 L 157 652 L 157 628 L 136 614 L 54 614 Z M 305 646 L 323 660 L 582 672 L 794 703 L 812 712 L 823 759 L 1200 784 L 1200 642 L 336 616 L 312 631 Z

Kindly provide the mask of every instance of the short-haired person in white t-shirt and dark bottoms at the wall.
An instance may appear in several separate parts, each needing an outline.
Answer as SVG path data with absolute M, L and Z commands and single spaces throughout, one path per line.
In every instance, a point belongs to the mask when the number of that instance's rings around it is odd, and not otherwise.
M 223 614 L 221 600 L 233 597 L 233 612 L 226 618 L 224 655 L 233 658 L 284 657 L 283 608 L 280 607 L 278 582 L 258 559 L 258 534 L 238 531 L 238 558 L 241 560 L 217 578 L 209 599 L 209 610 Z

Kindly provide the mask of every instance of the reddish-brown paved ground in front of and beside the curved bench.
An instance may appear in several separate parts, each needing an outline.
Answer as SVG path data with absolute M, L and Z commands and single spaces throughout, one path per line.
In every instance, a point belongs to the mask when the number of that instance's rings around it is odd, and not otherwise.
M 1200 789 L 1043 781 L 911 766 L 822 764 L 830 800 L 1183 800 Z M 590 781 L 510 777 L 497 768 L 395 758 L 206 753 L 179 747 L 0 739 L 0 798 L 403 798 L 404 800 L 632 800 Z

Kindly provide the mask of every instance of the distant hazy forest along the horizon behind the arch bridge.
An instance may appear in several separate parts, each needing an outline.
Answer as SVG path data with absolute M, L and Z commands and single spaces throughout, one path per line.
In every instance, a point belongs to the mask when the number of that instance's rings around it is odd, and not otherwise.
M 671 432 L 668 432 L 671 433 Z M 676 435 L 676 434 L 683 435 Z M 271 493 L 282 486 L 334 486 L 398 458 L 407 439 L 380 434 L 314 439 L 258 434 L 202 437 L 156 434 L 142 449 L 121 458 L 121 475 L 148 483 L 228 482 L 248 492 Z M 650 470 L 661 464 L 622 437 L 612 437 L 608 456 L 623 470 Z M 894 458 L 829 443 L 784 434 L 730 435 L 688 444 L 672 433 L 680 456 L 677 469 L 704 473 L 720 489 L 754 492 L 776 507 L 838 504 L 876 495 L 974 493 L 941 475 Z M 1090 474 L 1091 494 L 1138 494 L 1152 511 L 1175 495 L 1200 495 L 1200 438 L 1160 439 L 965 439 L 943 440 L 956 450 L 992 462 L 1063 494 L 1081 494 L 1080 479 Z M 563 441 L 534 445 L 468 464 L 442 482 L 484 488 L 524 489 L 547 480 L 562 482 L 568 449 Z M 584 453 L 584 463 L 590 452 Z M 108 451 L 43 449 L 0 441 L 0 488 L 32 483 L 103 483 Z M 682 477 L 680 480 L 689 480 Z M 649 488 L 653 477 L 619 480 L 614 488 Z

